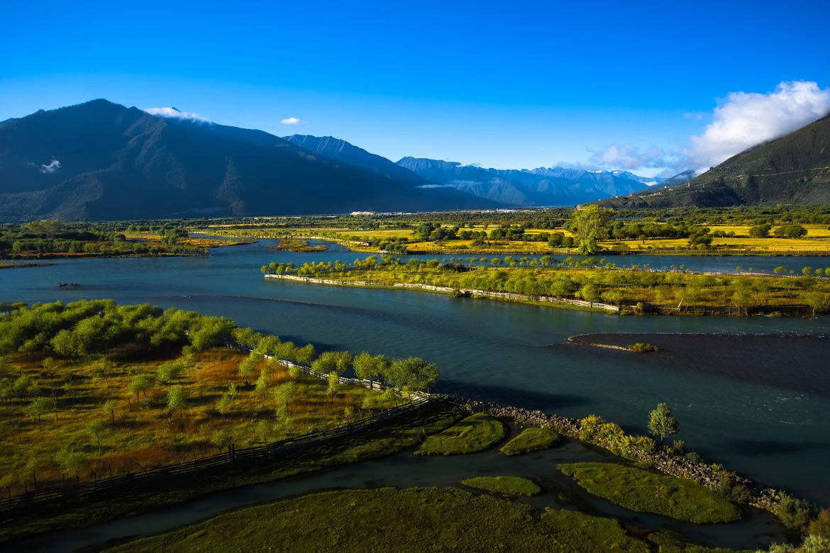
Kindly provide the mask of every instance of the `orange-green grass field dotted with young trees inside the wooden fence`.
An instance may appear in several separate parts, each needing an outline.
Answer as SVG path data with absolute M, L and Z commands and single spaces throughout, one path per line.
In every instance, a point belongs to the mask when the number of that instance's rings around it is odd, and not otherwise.
M 46 361 L 34 354 L 10 356 L 7 364 L 0 366 L 0 381 L 27 376 L 34 389 L 28 397 L 7 398 L 0 409 L 0 441 L 5 451 L 0 456 L 0 478 L 12 478 L 11 489 L 2 492 L 61 483 L 61 468 L 54 455 L 62 448 L 85 454 L 81 480 L 104 478 L 217 454 L 228 443 L 238 449 L 334 427 L 344 423 L 345 410 L 357 419 L 369 414 L 363 408 L 365 400 L 380 398 L 377 391 L 359 386 L 342 386 L 330 398 L 326 382 L 301 375 L 295 381 L 291 420 L 276 424 L 271 392 L 294 379 L 284 366 L 269 366 L 268 390 L 260 395 L 252 382 L 266 362 L 256 366 L 246 385 L 238 374 L 239 363 L 245 358 L 228 349 L 192 357 L 176 353 L 148 357 L 132 347 L 76 363 Z M 109 365 L 103 365 L 104 360 Z M 136 375 L 156 375 L 171 361 L 182 364 L 181 376 L 168 384 L 156 381 L 139 398 L 127 390 Z M 222 415 L 217 411 L 217 400 L 230 384 L 237 386 L 237 393 Z M 188 395 L 187 405 L 180 412 L 170 412 L 168 390 L 177 385 Z M 41 415 L 39 423 L 26 412 L 35 396 L 55 398 L 56 409 Z M 114 411 L 105 410 L 107 400 L 115 402 Z M 388 406 L 380 402 L 374 408 Z M 103 423 L 97 435 L 86 428 L 95 422 Z

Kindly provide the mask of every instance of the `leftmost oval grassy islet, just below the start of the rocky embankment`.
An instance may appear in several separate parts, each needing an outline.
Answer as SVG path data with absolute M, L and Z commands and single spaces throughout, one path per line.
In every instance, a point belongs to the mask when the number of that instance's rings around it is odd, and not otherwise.
M 476 413 L 427 438 L 416 455 L 474 454 L 496 444 L 505 435 L 505 425 L 496 417 Z

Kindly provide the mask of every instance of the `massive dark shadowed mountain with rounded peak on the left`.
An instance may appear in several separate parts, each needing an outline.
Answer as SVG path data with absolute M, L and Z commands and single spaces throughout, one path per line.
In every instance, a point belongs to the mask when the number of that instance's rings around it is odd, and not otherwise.
M 0 219 L 145 219 L 497 204 L 418 187 L 258 130 L 104 99 L 0 124 Z

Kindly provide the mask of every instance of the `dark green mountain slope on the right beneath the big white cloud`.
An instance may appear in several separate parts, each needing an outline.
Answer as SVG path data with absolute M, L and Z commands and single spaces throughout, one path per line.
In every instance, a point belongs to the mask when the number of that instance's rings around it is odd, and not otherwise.
M 685 184 L 601 203 L 615 207 L 828 204 L 830 116 L 749 148 Z

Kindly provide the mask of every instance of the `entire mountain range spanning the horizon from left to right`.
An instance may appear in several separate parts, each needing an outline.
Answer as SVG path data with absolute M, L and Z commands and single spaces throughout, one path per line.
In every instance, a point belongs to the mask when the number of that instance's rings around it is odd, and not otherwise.
M 689 181 L 694 172 L 662 180 L 627 171 L 494 169 L 427 158 L 393 163 L 339 138 L 279 138 L 172 115 L 97 99 L 3 121 L 0 220 L 440 211 L 589 201 L 616 207 L 830 203 L 830 117 Z

